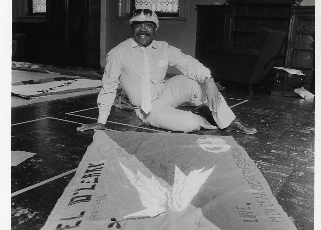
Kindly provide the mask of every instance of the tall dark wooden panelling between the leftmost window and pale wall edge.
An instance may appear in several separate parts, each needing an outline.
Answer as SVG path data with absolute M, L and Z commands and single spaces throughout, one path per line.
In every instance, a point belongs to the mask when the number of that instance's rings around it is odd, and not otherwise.
M 100 69 L 100 0 L 47 0 L 46 62 Z

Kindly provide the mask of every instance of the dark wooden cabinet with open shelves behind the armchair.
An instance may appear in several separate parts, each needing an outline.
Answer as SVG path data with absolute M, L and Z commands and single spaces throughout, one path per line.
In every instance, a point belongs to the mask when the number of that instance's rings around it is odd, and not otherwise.
M 294 5 L 294 0 L 237 0 L 230 5 L 196 5 L 195 57 L 201 58 L 204 42 L 244 46 L 261 28 L 289 33 Z M 218 33 L 217 28 L 222 31 Z M 277 61 L 279 66 L 285 65 L 287 43 L 282 47 Z

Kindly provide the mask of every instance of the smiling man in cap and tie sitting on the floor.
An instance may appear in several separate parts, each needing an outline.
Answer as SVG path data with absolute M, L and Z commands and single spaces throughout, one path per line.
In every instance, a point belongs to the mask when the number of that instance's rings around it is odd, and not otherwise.
M 217 128 L 202 116 L 176 109 L 197 98 L 210 108 L 219 128 L 256 133 L 255 128 L 248 128 L 236 118 L 219 93 L 208 68 L 167 42 L 153 40 L 159 28 L 156 13 L 137 9 L 129 22 L 133 37 L 110 50 L 106 56 L 102 89 L 97 99 L 98 122 L 82 125 L 77 130 L 105 128 L 119 82 L 136 115 L 147 125 L 184 133 Z M 182 75 L 165 81 L 168 66 L 176 66 Z

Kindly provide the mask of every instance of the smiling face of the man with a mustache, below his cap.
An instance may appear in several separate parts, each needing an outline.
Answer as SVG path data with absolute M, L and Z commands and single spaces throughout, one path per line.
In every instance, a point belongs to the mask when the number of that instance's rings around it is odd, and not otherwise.
M 156 25 L 150 21 L 134 21 L 132 24 L 133 39 L 138 45 L 148 46 L 156 34 Z

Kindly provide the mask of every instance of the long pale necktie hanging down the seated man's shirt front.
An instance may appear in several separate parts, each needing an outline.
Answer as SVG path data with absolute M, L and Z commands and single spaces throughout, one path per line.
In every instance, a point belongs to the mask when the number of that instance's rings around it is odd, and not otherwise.
M 146 47 L 140 47 L 143 51 L 143 76 L 142 76 L 142 92 L 141 92 L 141 108 L 148 114 L 152 109 L 151 88 L 150 88 L 150 72 L 149 61 L 146 54 Z

